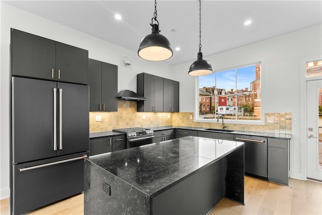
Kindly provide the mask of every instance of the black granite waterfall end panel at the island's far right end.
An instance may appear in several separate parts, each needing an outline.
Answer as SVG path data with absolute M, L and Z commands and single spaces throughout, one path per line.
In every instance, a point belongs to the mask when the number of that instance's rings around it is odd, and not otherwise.
M 223 158 L 225 197 L 245 205 L 244 145 Z

